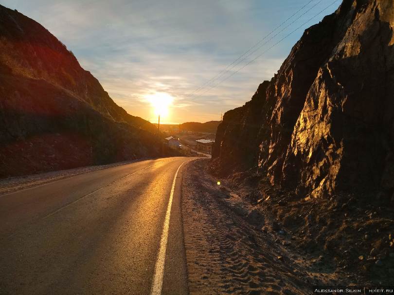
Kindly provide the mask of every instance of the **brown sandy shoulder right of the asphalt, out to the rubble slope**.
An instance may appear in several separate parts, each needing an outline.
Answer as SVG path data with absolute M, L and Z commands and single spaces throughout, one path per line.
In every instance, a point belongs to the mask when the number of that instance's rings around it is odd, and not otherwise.
M 193 161 L 183 177 L 182 216 L 190 294 L 312 294 L 346 285 L 291 247 L 286 233 L 265 232 L 265 217 Z

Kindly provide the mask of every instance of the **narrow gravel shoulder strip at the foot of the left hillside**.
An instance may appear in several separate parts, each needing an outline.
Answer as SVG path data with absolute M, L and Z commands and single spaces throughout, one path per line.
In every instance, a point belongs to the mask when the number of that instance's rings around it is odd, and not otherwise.
M 60 180 L 68 177 L 72 177 L 78 174 L 88 173 L 95 170 L 115 167 L 119 165 L 129 164 L 140 160 L 124 161 L 118 163 L 112 163 L 107 165 L 95 165 L 78 167 L 67 170 L 44 172 L 26 176 L 9 177 L 5 179 L 0 179 L 0 195 L 15 192 L 18 190 L 26 189 L 29 187 L 41 185 L 47 182 Z

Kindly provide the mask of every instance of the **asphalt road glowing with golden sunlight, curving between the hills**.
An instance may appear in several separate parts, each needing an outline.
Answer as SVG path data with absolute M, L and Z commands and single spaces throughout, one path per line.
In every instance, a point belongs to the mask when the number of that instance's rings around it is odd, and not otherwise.
M 161 277 L 161 294 L 187 294 L 179 166 L 188 160 L 125 164 L 0 196 L 0 294 L 149 295 Z

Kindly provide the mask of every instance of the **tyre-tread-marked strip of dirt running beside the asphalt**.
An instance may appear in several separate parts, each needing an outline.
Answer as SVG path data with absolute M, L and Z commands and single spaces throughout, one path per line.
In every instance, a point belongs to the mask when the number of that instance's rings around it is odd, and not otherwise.
M 190 294 L 307 294 L 277 244 L 222 204 L 199 162 L 188 165 L 182 188 Z

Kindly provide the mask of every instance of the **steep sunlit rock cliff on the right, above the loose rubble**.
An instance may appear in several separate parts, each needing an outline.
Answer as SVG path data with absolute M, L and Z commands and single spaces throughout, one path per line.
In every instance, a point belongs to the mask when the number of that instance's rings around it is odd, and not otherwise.
M 394 2 L 344 0 L 251 101 L 227 112 L 219 170 L 257 167 L 299 196 L 394 192 Z

